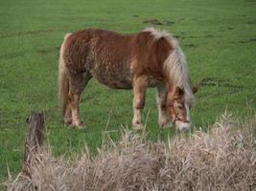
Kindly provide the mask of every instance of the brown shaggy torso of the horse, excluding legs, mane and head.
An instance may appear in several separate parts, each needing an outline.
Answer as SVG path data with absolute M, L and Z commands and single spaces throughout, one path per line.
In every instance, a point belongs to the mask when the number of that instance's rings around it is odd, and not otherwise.
M 159 63 L 166 59 L 169 48 L 162 50 L 163 42 L 154 41 L 151 32 L 89 29 L 72 33 L 65 44 L 66 67 L 73 74 L 90 73 L 101 83 L 121 89 L 131 88 L 136 75 L 147 75 L 149 84 L 163 80 Z

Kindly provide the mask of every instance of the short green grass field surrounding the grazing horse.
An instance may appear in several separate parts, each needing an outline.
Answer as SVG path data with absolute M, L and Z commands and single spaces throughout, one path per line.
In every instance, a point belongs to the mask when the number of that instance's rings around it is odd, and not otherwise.
M 0 2 L 0 180 L 7 165 L 20 171 L 26 118 L 47 115 L 48 141 L 55 155 L 96 152 L 107 130 L 113 139 L 130 127 L 131 91 L 117 91 L 91 80 L 82 95 L 86 130 L 63 126 L 57 102 L 58 49 L 66 32 L 102 28 L 139 32 L 154 26 L 173 32 L 187 56 L 190 74 L 200 84 L 192 112 L 195 128 L 207 127 L 225 109 L 246 117 L 256 109 L 256 1 L 253 0 L 12 0 Z M 149 138 L 175 130 L 157 127 L 155 91 L 147 93 Z

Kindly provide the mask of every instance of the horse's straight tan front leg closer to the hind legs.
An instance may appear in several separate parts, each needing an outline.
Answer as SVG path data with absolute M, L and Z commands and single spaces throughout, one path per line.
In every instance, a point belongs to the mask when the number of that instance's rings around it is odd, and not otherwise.
M 133 129 L 143 129 L 142 111 L 145 105 L 148 81 L 145 76 L 136 77 L 133 80 Z

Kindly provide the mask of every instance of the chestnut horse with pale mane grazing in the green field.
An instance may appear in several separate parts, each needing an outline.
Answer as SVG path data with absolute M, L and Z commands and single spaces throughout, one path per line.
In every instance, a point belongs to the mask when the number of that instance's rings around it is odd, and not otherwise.
M 58 99 L 71 127 L 84 125 L 79 102 L 92 77 L 111 88 L 133 89 L 134 129 L 143 128 L 148 87 L 157 89 L 160 127 L 190 128 L 194 92 L 184 53 L 170 33 L 149 28 L 135 34 L 96 29 L 66 34 L 59 54 Z

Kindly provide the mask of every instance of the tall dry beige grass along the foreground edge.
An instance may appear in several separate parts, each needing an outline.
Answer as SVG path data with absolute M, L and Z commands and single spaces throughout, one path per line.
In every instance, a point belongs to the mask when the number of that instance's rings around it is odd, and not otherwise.
M 9 190 L 256 190 L 256 117 L 243 124 L 222 117 L 208 133 L 166 142 L 123 132 L 95 158 L 33 156 L 32 179 L 19 175 Z

